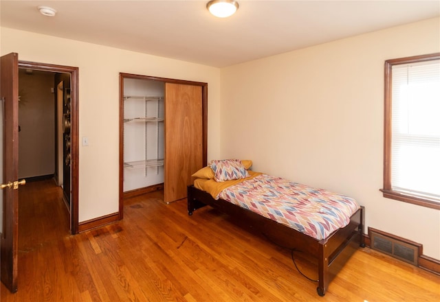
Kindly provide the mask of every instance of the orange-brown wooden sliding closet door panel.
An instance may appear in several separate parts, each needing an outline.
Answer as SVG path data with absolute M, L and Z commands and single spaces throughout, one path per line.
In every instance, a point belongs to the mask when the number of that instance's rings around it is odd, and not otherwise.
M 191 174 L 203 167 L 201 86 L 165 84 L 164 201 L 186 198 Z

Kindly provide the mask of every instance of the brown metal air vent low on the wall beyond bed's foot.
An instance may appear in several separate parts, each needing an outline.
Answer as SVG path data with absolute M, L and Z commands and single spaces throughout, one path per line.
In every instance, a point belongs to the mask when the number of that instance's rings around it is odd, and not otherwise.
M 418 266 L 420 244 L 369 228 L 371 248 Z

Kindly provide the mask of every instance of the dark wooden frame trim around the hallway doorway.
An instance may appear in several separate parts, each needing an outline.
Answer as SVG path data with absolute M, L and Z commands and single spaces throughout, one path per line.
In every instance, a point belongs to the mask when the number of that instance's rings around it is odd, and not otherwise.
M 19 68 L 50 71 L 55 73 L 70 73 L 71 83 L 71 191 L 70 200 L 70 231 L 78 233 L 78 200 L 79 200 L 79 117 L 78 117 L 78 67 L 53 65 L 39 62 L 19 60 Z

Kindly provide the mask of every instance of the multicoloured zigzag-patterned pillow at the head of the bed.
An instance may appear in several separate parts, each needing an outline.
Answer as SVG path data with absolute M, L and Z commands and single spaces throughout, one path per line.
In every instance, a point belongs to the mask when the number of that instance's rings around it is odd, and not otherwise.
M 233 179 L 250 176 L 248 170 L 246 170 L 239 159 L 212 160 L 209 165 L 214 172 L 214 179 L 217 182 L 232 181 Z

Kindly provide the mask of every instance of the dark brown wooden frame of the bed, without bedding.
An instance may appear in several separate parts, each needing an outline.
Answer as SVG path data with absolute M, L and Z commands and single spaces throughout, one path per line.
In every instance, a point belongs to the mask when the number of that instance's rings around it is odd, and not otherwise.
M 364 207 L 351 216 L 347 227 L 339 229 L 323 240 L 290 229 L 248 209 L 243 209 L 226 200 L 214 200 L 206 191 L 188 186 L 188 215 L 201 207 L 210 205 L 223 213 L 249 224 L 252 229 L 274 238 L 283 246 L 302 251 L 318 259 L 318 294 L 325 295 L 330 281 L 358 249 L 364 247 Z

